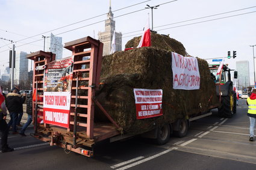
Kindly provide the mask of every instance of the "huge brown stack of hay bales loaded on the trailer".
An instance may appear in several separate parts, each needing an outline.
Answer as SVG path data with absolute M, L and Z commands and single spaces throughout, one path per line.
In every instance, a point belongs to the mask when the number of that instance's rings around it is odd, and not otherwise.
M 128 41 L 126 47 L 137 46 L 139 38 Z M 199 90 L 173 90 L 171 52 L 186 55 L 186 49 L 183 44 L 165 35 L 151 33 L 151 41 L 151 47 L 115 52 L 102 59 L 101 82 L 104 85 L 96 96 L 124 132 L 143 133 L 155 125 L 172 123 L 178 118 L 205 112 L 219 105 L 207 61 L 198 58 Z M 162 89 L 163 116 L 137 120 L 134 88 Z M 103 120 L 104 115 L 96 112 L 95 118 Z

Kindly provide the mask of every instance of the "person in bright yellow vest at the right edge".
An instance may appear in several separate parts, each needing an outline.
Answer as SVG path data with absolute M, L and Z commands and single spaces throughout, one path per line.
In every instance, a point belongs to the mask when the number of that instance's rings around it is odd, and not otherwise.
M 250 138 L 249 141 L 254 141 L 254 127 L 256 120 L 256 89 L 252 90 L 252 94 L 247 98 L 248 113 L 250 119 Z

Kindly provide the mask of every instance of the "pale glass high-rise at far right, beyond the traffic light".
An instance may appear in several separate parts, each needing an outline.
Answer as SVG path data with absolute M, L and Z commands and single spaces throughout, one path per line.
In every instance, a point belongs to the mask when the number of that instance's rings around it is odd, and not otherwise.
M 247 88 L 250 86 L 250 76 L 249 76 L 249 61 L 237 61 L 237 86 L 242 90 L 242 87 Z

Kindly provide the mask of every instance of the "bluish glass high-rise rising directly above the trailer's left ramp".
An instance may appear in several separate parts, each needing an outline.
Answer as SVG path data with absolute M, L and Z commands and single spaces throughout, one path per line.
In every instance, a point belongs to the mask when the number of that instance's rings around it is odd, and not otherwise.
M 56 37 L 52 33 L 49 37 L 46 37 L 45 51 L 55 53 L 56 59 L 61 59 L 63 53 L 62 37 Z

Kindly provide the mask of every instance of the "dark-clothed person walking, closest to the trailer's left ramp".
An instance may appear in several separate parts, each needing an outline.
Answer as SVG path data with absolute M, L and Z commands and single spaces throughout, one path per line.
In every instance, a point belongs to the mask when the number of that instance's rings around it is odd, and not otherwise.
M 33 99 L 33 91 L 30 92 L 30 94 L 27 95 L 27 114 L 28 114 L 28 120 L 27 123 L 25 123 L 22 126 L 22 129 L 19 132 L 19 135 L 27 136 L 25 135 L 25 130 L 32 122 L 32 99 Z

